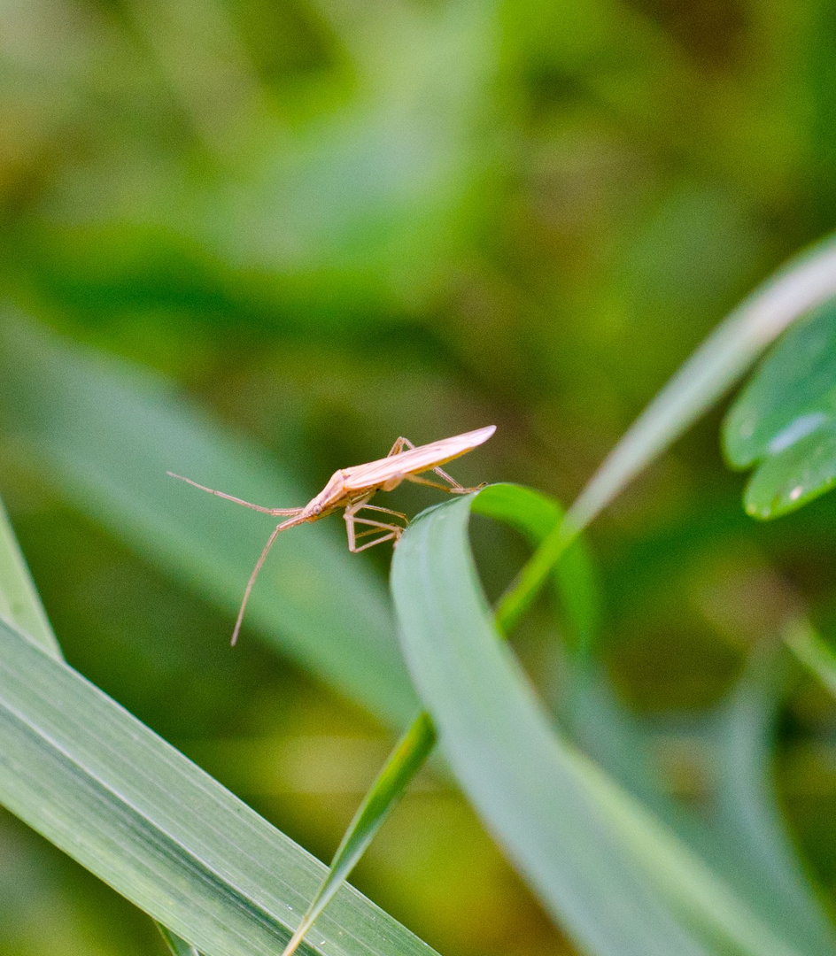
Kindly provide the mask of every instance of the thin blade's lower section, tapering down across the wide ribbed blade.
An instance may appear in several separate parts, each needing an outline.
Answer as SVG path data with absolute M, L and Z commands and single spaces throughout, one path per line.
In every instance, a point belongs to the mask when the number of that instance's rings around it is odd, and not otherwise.
M 429 714 L 418 714 L 404 736 L 398 741 L 378 774 L 363 803 L 354 815 L 340 846 L 331 860 L 328 875 L 322 881 L 281 956 L 291 956 L 305 934 L 313 926 L 322 910 L 333 899 L 349 873 L 354 869 L 386 816 L 394 809 L 415 774 L 424 766 L 430 750 L 435 746 L 435 729 Z

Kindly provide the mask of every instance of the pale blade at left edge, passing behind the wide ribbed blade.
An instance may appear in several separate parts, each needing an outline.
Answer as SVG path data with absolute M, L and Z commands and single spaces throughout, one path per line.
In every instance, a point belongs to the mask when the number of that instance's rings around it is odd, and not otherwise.
M 62 660 L 61 648 L 55 637 L 46 609 L 34 586 L 26 558 L 17 543 L 9 515 L 0 500 L 0 613 L 34 641 Z M 174 956 L 200 956 L 194 947 L 180 939 L 161 923 L 156 923 L 163 939 Z

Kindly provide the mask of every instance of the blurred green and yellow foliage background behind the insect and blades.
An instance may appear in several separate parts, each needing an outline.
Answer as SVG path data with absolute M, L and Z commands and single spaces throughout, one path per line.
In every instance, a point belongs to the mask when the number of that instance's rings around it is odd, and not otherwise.
M 836 226 L 834 55 L 828 0 L 6 0 L 0 322 L 174 380 L 308 497 L 398 435 L 496 424 L 455 476 L 568 502 L 738 298 Z M 608 673 L 697 808 L 700 728 L 752 641 L 800 599 L 836 629 L 836 504 L 747 519 L 718 423 L 591 534 Z M 12 431 L 0 493 L 68 660 L 329 858 L 396 728 L 253 628 L 232 652 L 229 615 L 82 515 Z M 525 550 L 478 543 L 495 591 Z M 388 558 L 352 560 L 383 582 Z M 547 612 L 517 647 L 557 699 Z M 833 717 L 802 684 L 778 751 L 828 893 Z M 0 861 L 0 953 L 163 952 L 5 813 Z M 570 951 L 430 772 L 353 881 L 445 956 Z

